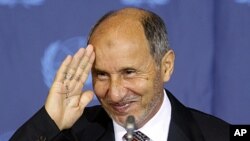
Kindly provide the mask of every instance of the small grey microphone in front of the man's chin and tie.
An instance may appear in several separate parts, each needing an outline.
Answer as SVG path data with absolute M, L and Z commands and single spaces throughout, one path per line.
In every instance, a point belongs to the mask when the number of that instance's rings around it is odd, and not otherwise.
M 127 139 L 128 141 L 131 141 L 133 138 L 133 133 L 135 130 L 135 117 L 132 115 L 129 115 L 126 120 L 125 128 L 127 130 Z

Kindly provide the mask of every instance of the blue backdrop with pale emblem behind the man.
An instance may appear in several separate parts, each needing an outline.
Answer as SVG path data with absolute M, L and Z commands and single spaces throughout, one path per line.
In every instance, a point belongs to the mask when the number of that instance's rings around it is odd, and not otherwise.
M 166 88 L 187 106 L 250 124 L 250 0 L 0 0 L 0 141 L 43 106 L 60 61 L 97 19 L 125 6 L 166 22 L 176 52 Z

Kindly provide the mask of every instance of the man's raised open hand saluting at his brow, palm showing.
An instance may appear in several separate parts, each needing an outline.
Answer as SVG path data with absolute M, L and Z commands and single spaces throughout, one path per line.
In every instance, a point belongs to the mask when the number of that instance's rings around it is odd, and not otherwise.
M 57 71 L 45 103 L 45 109 L 60 130 L 72 127 L 93 99 L 92 91 L 82 92 L 95 59 L 93 46 L 80 48 L 67 56 Z

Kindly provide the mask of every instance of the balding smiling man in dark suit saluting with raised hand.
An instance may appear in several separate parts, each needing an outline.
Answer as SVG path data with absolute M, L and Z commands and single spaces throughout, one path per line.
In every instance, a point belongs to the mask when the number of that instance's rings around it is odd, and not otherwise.
M 229 140 L 226 122 L 183 106 L 164 89 L 174 58 L 156 14 L 138 8 L 106 14 L 87 48 L 63 61 L 45 106 L 11 140 L 121 141 L 129 115 L 150 140 Z M 102 106 L 87 108 L 93 92 L 82 88 L 90 70 Z

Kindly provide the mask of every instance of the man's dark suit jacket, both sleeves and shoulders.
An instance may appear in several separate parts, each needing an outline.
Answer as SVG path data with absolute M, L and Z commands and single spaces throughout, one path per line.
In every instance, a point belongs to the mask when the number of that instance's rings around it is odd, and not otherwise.
M 229 124 L 187 108 L 170 92 L 172 106 L 168 141 L 229 141 Z M 159 129 L 160 130 L 160 129 Z M 10 141 L 114 141 L 113 123 L 101 106 L 86 108 L 71 129 L 59 131 L 45 108 L 28 120 Z

